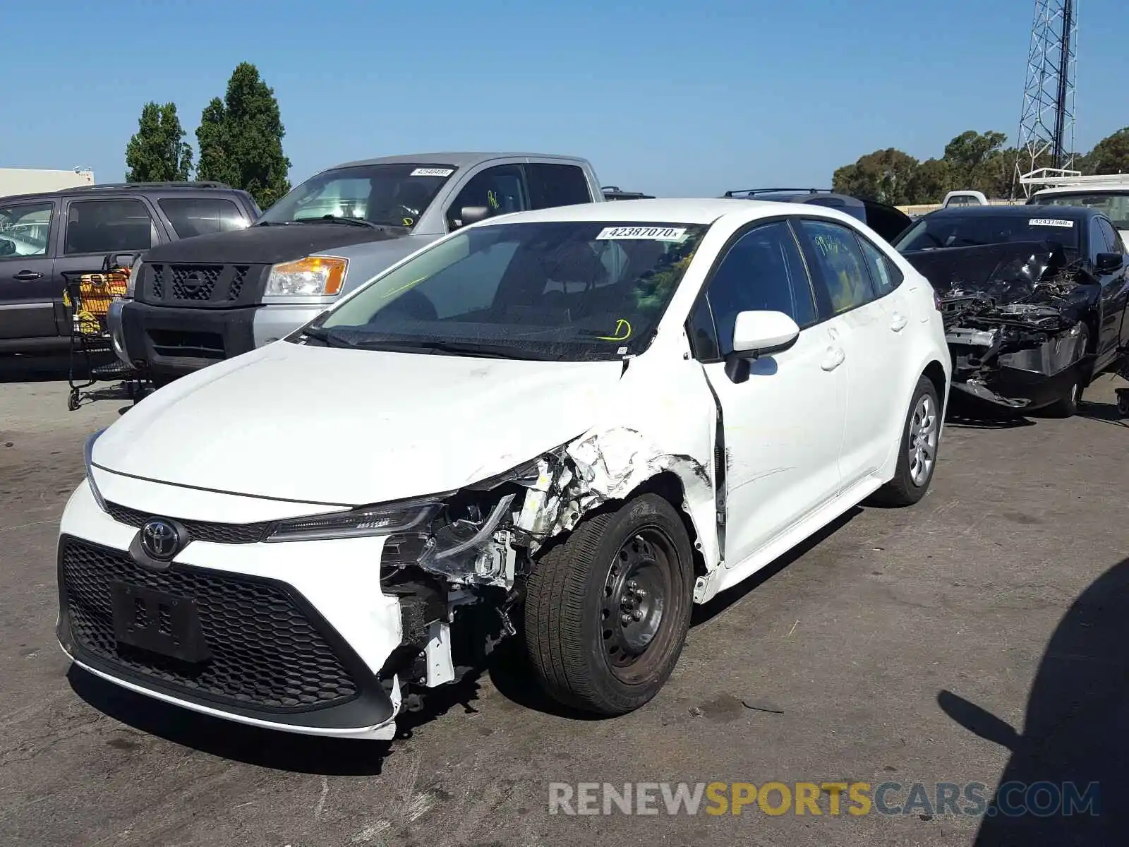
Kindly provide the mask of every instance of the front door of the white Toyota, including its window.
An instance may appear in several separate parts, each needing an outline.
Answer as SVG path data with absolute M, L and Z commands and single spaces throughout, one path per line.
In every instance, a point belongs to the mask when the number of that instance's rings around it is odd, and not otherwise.
M 789 349 L 753 359 L 735 375 L 725 359 L 733 352 L 736 316 L 749 311 L 784 312 L 800 332 Z M 811 279 L 787 220 L 734 236 L 710 273 L 691 333 L 720 407 L 723 556 L 732 568 L 833 499 L 840 482 L 843 351 L 817 322 Z

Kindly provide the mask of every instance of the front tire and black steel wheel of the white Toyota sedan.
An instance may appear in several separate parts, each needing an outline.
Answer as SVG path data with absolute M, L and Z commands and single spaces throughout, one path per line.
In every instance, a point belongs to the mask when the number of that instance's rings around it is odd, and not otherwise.
M 542 688 L 597 715 L 649 701 L 682 653 L 693 582 L 685 526 L 662 497 L 583 521 L 526 585 L 525 644 Z

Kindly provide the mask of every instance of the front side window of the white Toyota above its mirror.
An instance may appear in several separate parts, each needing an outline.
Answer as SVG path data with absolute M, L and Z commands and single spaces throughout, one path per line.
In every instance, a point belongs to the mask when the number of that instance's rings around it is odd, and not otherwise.
M 715 269 L 706 296 L 723 356 L 733 352 L 733 329 L 742 312 L 784 312 L 802 329 L 816 320 L 803 256 L 782 220 L 741 236 Z

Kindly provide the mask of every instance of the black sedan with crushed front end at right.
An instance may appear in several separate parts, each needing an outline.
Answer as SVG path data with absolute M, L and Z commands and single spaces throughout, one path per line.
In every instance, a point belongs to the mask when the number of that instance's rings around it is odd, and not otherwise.
M 964 207 L 926 215 L 894 246 L 940 300 L 953 388 L 1068 417 L 1129 350 L 1129 269 L 1093 209 Z

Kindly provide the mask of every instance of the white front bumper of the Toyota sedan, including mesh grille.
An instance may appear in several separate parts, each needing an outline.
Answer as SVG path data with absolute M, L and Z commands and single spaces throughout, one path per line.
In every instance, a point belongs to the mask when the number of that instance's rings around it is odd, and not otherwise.
M 123 506 L 138 504 L 138 491 L 150 488 L 147 505 L 167 508 L 173 489 L 181 492 L 178 517 L 262 516 L 262 501 L 254 506 L 259 514 L 238 510 L 251 498 L 96 473 L 106 499 Z M 401 618 L 397 600 L 380 592 L 383 539 L 192 541 L 167 570 L 152 571 L 126 552 L 137 534 L 135 526 L 98 508 L 87 482 L 68 503 L 56 634 L 77 664 L 130 690 L 238 723 L 312 735 L 394 736 L 399 680 L 382 671 L 401 641 Z M 193 601 L 210 658 L 190 665 L 117 640 L 115 584 Z

